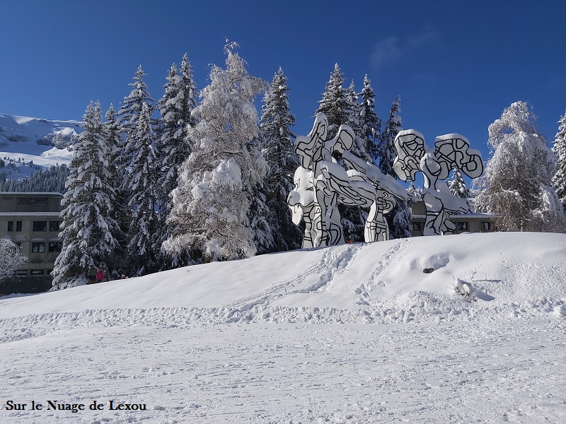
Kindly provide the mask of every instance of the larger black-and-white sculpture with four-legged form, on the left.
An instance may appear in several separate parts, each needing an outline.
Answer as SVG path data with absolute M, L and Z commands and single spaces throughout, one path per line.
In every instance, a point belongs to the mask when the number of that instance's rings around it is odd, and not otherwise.
M 384 213 L 395 204 L 393 196 L 408 199 L 398 182 L 350 152 L 354 131 L 341 125 L 338 134 L 326 140 L 328 119 L 319 113 L 307 136 L 297 136 L 295 152 L 301 166 L 294 176 L 295 189 L 289 193 L 287 204 L 296 225 L 305 222 L 303 247 L 340 245 L 345 242 L 337 204 L 369 208 L 365 225 L 365 240 L 387 240 L 389 230 Z M 342 155 L 352 167 L 346 171 L 335 156 Z

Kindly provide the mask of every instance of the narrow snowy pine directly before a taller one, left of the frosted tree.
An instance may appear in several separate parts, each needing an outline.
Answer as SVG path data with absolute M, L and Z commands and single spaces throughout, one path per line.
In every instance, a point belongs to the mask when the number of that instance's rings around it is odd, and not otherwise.
M 130 193 L 128 206 L 132 210 L 127 262 L 134 276 L 158 269 L 161 248 L 156 240 L 160 225 L 156 212 L 159 169 L 151 110 L 151 106 L 144 102 L 132 136 L 132 170 L 125 178 Z

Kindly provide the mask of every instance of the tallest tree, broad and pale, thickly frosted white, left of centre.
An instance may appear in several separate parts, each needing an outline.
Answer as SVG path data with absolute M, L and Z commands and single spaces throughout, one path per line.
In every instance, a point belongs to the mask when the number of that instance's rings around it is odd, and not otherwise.
M 265 90 L 265 82 L 250 76 L 236 47 L 226 45 L 226 69 L 212 66 L 210 83 L 193 111 L 197 124 L 188 131 L 192 153 L 173 190 L 167 252 L 200 252 L 205 261 L 256 252 L 253 231 L 246 227 L 246 191 L 265 176 L 265 159 L 253 143 L 259 132 L 253 100 Z

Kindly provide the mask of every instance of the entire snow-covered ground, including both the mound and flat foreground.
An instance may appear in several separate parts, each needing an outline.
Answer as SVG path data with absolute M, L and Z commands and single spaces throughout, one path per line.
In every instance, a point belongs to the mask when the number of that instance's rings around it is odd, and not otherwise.
M 564 423 L 565 276 L 566 235 L 490 233 L 13 295 L 0 421 Z

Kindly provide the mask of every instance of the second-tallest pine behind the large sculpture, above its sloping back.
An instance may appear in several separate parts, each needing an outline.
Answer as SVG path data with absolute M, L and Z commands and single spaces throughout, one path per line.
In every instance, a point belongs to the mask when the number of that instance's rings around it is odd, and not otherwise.
M 379 134 L 381 132 L 381 119 L 375 112 L 375 93 L 371 88 L 371 80 L 364 76 L 364 88 L 362 88 L 362 102 L 360 104 L 359 120 L 362 129 L 362 137 L 364 139 L 364 148 L 366 154 L 371 158 L 372 163 L 379 160 L 377 143 L 379 142 Z

